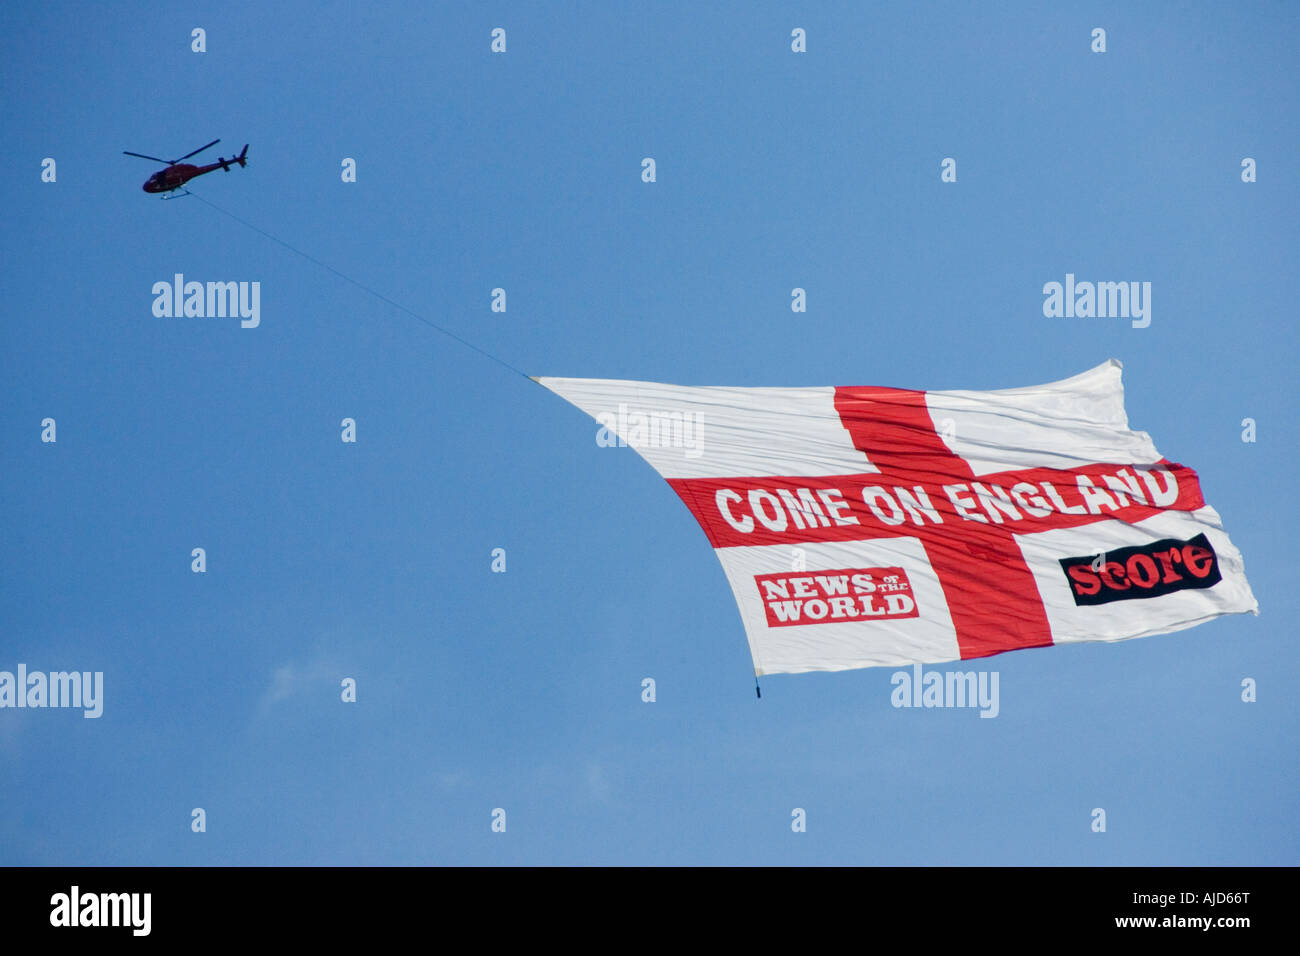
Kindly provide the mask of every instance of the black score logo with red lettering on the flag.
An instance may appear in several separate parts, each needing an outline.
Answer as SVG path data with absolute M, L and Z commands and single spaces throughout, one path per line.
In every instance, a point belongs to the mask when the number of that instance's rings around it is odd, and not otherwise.
M 1093 554 L 1060 561 L 1079 606 L 1213 588 L 1222 580 L 1218 555 L 1205 535 L 1190 541 L 1166 537 L 1139 548 L 1106 551 L 1100 571 L 1093 570 L 1097 561 Z

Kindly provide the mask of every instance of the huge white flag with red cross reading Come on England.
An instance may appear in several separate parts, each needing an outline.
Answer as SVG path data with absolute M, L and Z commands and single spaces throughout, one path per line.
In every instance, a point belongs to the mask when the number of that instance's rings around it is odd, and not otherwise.
M 754 672 L 942 663 L 1258 613 L 1121 364 L 997 392 L 537 378 L 634 447 L 722 562 Z

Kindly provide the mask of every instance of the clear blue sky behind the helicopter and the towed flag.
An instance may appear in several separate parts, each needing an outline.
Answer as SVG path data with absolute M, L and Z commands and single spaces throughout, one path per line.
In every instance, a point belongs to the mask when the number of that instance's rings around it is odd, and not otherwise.
M 0 711 L 0 862 L 1300 862 L 1300 10 L 1152 7 L 5 4 L 0 669 L 105 702 Z M 122 156 L 216 137 L 248 168 L 195 193 L 530 375 L 1118 358 L 1261 614 L 989 658 L 997 719 L 897 710 L 892 669 L 758 701 L 632 449 Z M 261 325 L 155 317 L 177 272 L 260 281 Z M 1150 326 L 1045 319 L 1067 272 L 1152 282 Z

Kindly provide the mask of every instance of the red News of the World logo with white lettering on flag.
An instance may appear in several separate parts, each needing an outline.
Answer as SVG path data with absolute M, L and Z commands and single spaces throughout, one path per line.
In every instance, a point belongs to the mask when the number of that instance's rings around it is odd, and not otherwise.
M 768 627 L 918 617 L 901 567 L 754 575 Z

